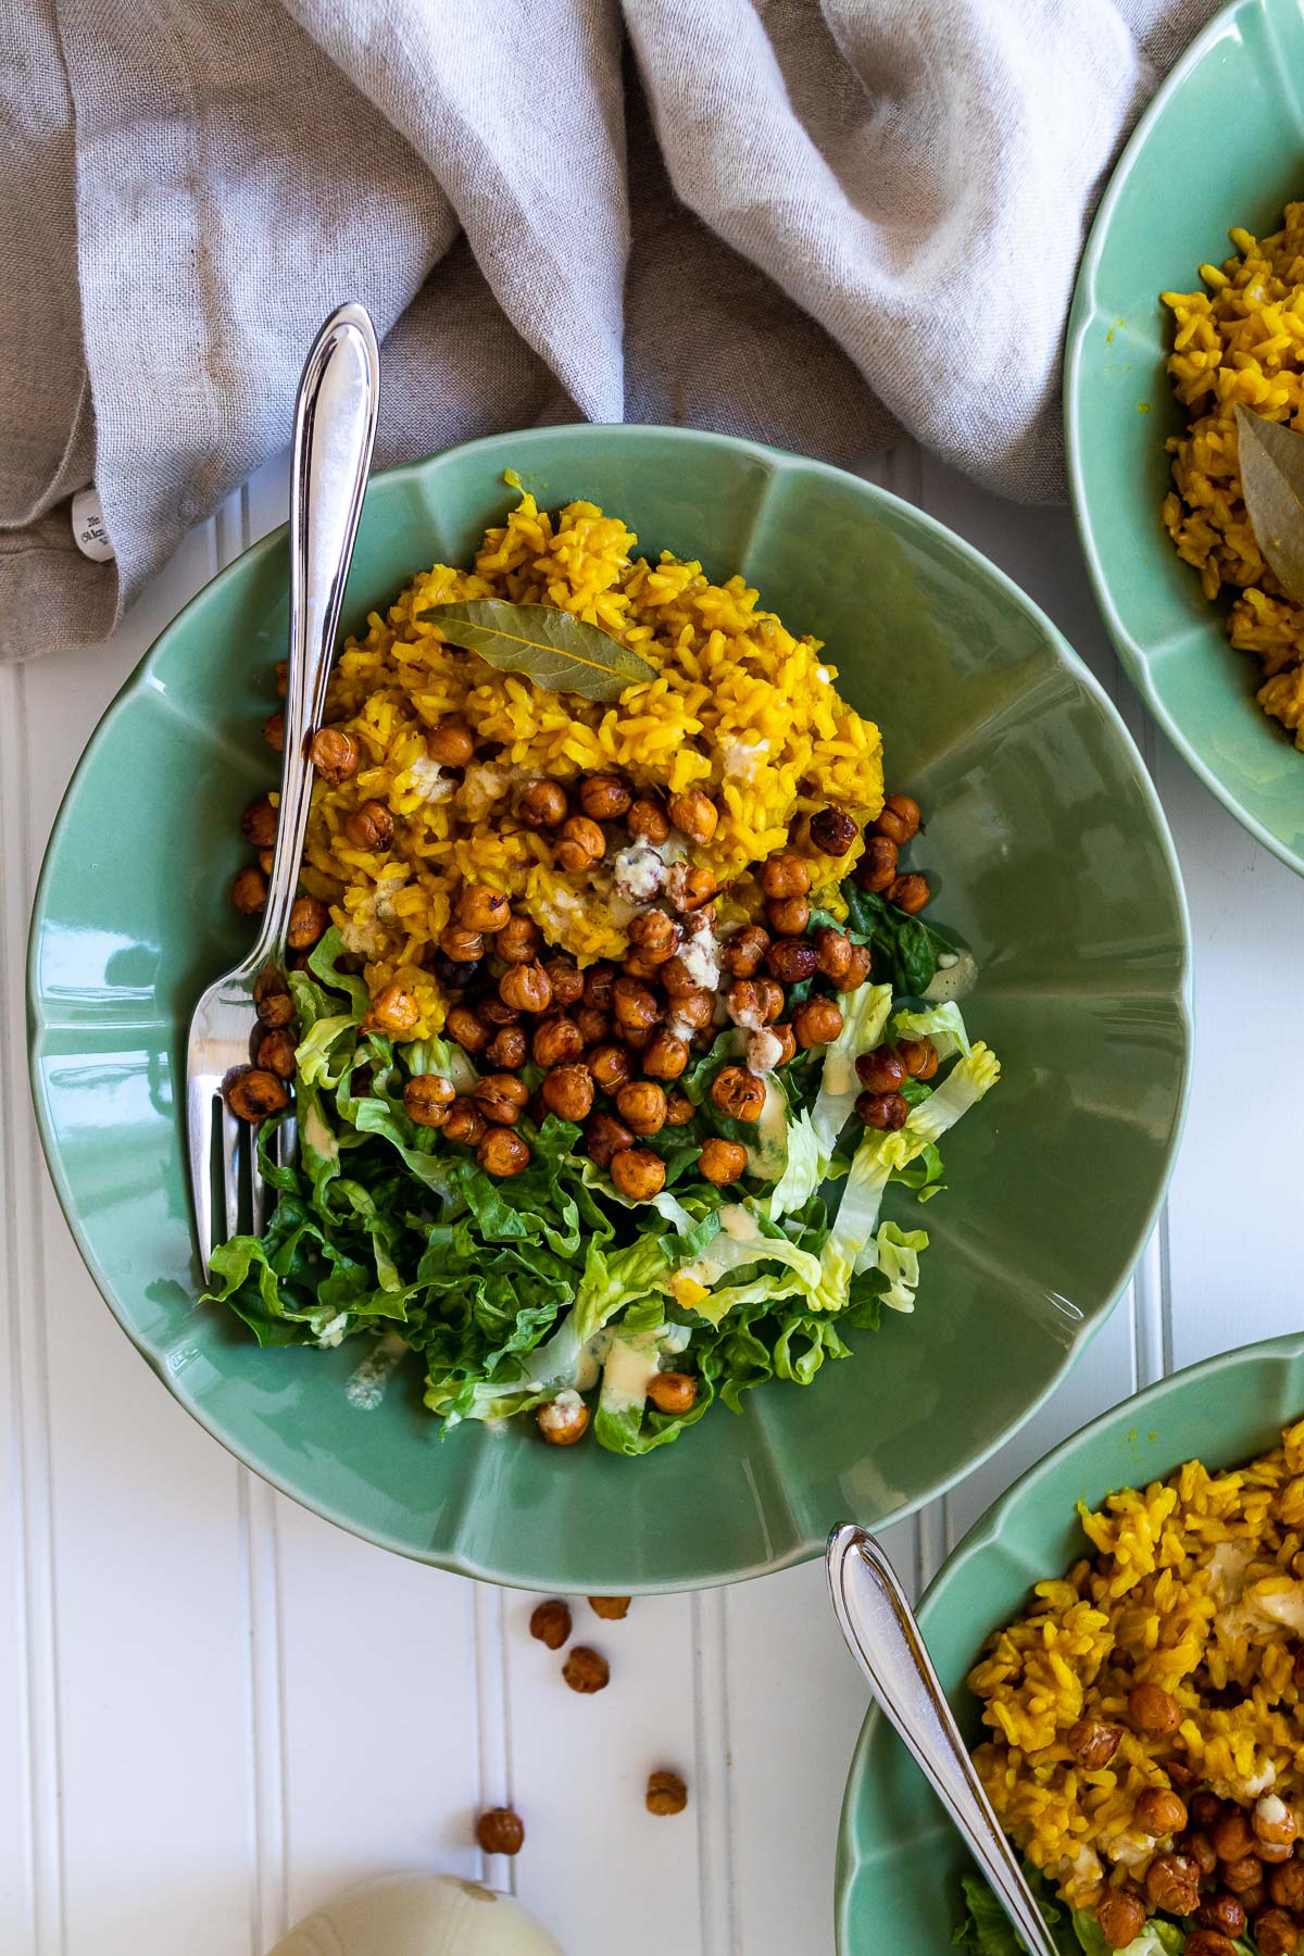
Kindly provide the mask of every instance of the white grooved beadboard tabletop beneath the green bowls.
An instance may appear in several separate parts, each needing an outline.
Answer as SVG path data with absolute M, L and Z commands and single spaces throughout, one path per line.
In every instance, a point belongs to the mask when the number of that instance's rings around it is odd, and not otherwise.
M 1065 511 L 1015 509 L 915 452 L 866 473 L 1001 563 L 1101 675 L 1173 823 L 1195 927 L 1195 1089 L 1159 1226 L 1036 1420 L 890 1532 L 923 1584 L 983 1506 L 1095 1412 L 1298 1328 L 1300 1082 L 1263 1013 L 1298 1000 L 1304 882 L 1144 718 Z M 371 1549 L 235 1465 L 117 1330 L 59 1213 L 23 1052 L 45 837 L 145 647 L 282 520 L 283 499 L 283 467 L 254 479 L 104 647 L 0 671 L 0 1952 L 262 1956 L 332 1889 L 413 1866 L 510 1886 L 569 1956 L 827 1956 L 864 1698 L 817 1563 L 635 1602 L 602 1625 L 612 1686 L 575 1698 L 526 1633 L 530 1598 Z M 579 1602 L 581 1629 L 587 1618 Z M 661 1764 L 690 1782 L 682 1819 L 643 1811 Z M 485 1864 L 473 1817 L 500 1801 L 522 1811 L 528 1843 Z

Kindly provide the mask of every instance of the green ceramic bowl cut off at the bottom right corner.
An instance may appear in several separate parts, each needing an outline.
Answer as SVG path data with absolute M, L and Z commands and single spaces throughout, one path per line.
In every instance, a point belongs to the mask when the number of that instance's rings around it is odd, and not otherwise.
M 960 1729 L 981 1737 L 964 1678 L 983 1637 L 1007 1623 L 1034 1582 L 1089 1553 L 1077 1502 L 1161 1481 L 1183 1461 L 1236 1467 L 1265 1453 L 1304 1410 L 1304 1334 L 1224 1352 L 1173 1373 L 1065 1440 L 987 1510 L 919 1608 Z M 927 1868 L 927 1880 L 921 1870 Z M 837 1854 L 839 1956 L 938 1956 L 964 1921 L 960 1876 L 974 1868 L 923 1774 L 870 1710 L 850 1762 Z M 1065 1925 L 1065 1952 L 1081 1956 Z

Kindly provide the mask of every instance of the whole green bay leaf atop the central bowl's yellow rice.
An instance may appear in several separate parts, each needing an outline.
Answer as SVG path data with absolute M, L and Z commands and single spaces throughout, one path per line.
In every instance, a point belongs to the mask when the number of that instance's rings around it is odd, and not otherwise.
M 506 599 L 463 599 L 418 612 L 454 645 L 479 651 L 504 673 L 524 673 L 549 692 L 583 692 L 614 702 L 626 687 L 647 685 L 657 667 L 630 651 L 610 632 L 573 618 L 553 604 L 508 604 Z

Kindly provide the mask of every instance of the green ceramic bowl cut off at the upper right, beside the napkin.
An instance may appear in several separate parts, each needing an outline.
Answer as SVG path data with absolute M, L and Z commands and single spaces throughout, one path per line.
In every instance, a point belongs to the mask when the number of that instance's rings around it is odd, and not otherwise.
M 1161 291 L 1200 289 L 1228 229 L 1304 196 L 1304 14 L 1238 0 L 1187 49 L 1122 153 L 1083 256 L 1065 356 L 1069 485 L 1097 599 L 1138 692 L 1251 835 L 1304 874 L 1304 755 L 1255 704 L 1259 661 L 1159 524 L 1183 428 Z

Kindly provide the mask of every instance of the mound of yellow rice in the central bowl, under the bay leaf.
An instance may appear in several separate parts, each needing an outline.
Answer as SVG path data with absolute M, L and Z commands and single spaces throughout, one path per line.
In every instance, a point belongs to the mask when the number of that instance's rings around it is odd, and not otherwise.
M 336 661 L 326 718 L 358 739 L 362 765 L 338 786 L 317 782 L 303 884 L 366 960 L 373 996 L 391 982 L 413 992 L 413 1037 L 444 1023 L 430 953 L 463 880 L 504 890 L 581 964 L 628 949 L 602 874 L 565 874 L 549 837 L 514 818 L 514 794 L 538 777 L 618 771 L 663 794 L 706 788 L 719 825 L 688 857 L 716 874 L 723 921 L 759 911 L 751 867 L 788 841 L 811 859 L 811 902 L 841 913 L 837 884 L 862 841 L 821 861 L 804 818 L 829 800 L 858 823 L 880 814 L 878 728 L 839 696 L 819 642 L 794 638 L 741 577 L 714 585 L 700 563 L 669 554 L 649 563 L 635 544 L 592 503 L 551 516 L 522 495 L 485 534 L 475 569 L 436 563 L 385 616 L 371 612 Z M 487 597 L 573 612 L 639 651 L 657 677 L 614 706 L 549 692 L 446 644 L 420 618 L 432 604 Z M 477 739 L 475 761 L 454 773 L 426 749 L 428 730 L 450 714 Z M 371 800 L 395 822 L 385 851 L 358 849 L 342 829 Z

